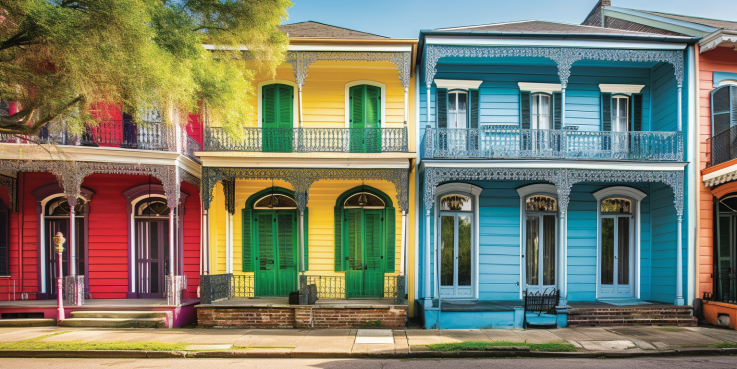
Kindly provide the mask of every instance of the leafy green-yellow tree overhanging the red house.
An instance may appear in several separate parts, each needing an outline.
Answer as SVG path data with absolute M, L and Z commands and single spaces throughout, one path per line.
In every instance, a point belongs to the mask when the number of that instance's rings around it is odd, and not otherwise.
M 0 117 L 0 133 L 33 135 L 56 118 L 81 133 L 110 104 L 134 117 L 157 109 L 170 123 L 172 112 L 205 104 L 210 120 L 238 134 L 253 114 L 247 66 L 275 74 L 288 44 L 277 26 L 291 5 L 0 0 L 0 98 L 21 107 Z

